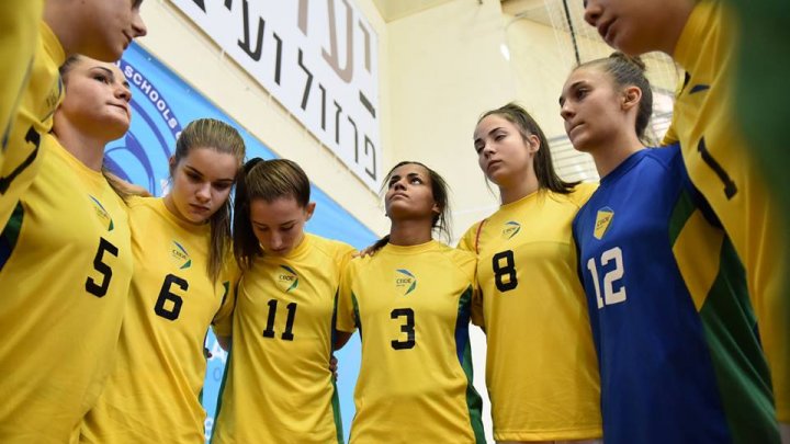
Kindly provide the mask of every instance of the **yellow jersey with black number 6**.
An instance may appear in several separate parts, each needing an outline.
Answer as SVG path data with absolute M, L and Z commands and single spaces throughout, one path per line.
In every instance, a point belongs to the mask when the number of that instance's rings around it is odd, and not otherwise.
M 208 224 L 179 219 L 162 198 L 133 197 L 128 212 L 135 270 L 117 365 L 80 442 L 204 443 L 204 339 L 233 271 L 217 282 L 206 272 Z

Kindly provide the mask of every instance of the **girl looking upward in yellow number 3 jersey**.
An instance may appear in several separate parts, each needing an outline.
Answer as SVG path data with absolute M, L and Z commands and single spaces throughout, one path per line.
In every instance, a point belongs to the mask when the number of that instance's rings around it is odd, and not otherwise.
M 352 444 L 483 443 L 469 322 L 475 258 L 432 239 L 449 232 L 447 185 L 418 162 L 385 181 L 390 235 L 349 263 L 338 301 L 342 346 L 360 331 Z

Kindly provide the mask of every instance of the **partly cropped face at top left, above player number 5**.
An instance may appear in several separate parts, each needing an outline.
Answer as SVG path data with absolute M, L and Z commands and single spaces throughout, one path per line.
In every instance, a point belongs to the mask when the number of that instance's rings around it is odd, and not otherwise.
M 74 26 L 79 26 L 78 38 L 68 52 L 115 61 L 133 39 L 146 35 L 139 9 L 143 0 L 80 0 Z

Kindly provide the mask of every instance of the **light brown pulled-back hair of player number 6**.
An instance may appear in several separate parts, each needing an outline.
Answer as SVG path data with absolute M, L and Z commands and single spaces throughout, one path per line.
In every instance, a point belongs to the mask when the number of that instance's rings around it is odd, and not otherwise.
M 216 152 L 233 155 L 238 166 L 245 158 L 245 143 L 233 126 L 215 118 L 192 121 L 176 140 L 176 152 L 170 166 L 172 175 L 176 166 L 195 148 L 207 148 Z M 230 249 L 230 197 L 210 217 L 211 243 L 208 249 L 208 275 L 216 281 L 222 272 L 225 258 Z

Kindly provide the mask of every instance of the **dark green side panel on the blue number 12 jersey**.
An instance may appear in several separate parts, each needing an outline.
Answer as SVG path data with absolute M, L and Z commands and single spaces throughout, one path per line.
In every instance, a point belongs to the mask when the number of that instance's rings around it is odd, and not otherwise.
M 729 238 L 700 310 L 733 443 L 779 443 L 770 374 L 748 298 L 746 272 Z

